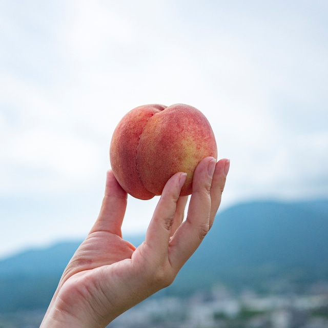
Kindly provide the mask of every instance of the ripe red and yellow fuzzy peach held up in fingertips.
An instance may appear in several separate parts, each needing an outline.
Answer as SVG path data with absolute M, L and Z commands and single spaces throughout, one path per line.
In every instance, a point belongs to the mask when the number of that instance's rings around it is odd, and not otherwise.
M 211 125 L 198 109 L 183 104 L 131 110 L 114 130 L 110 146 L 117 181 L 139 199 L 160 195 L 177 172 L 187 173 L 180 196 L 190 195 L 194 170 L 208 156 L 217 158 Z

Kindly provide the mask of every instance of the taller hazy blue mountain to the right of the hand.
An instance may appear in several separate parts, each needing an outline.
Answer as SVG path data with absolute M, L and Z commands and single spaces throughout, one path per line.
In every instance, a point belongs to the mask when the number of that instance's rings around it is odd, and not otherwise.
M 328 279 L 328 201 L 238 204 L 212 229 L 175 281 L 183 289 L 213 281 L 254 285 L 270 279 Z M 200 278 L 199 278 L 200 277 Z

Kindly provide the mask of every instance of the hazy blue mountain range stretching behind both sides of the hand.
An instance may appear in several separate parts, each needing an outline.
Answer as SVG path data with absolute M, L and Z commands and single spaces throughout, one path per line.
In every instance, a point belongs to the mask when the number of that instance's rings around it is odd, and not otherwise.
M 215 283 L 234 288 L 287 279 L 306 284 L 328 277 L 328 200 L 238 204 L 212 229 L 174 283 L 159 295 L 190 293 Z M 138 245 L 143 236 L 131 236 Z M 0 261 L 0 313 L 47 308 L 80 241 L 29 250 Z

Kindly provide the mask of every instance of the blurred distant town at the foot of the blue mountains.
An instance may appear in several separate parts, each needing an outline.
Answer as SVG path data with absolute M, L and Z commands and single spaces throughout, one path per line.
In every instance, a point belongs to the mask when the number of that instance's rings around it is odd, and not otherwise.
M 272 289 L 283 289 L 283 282 Z M 37 328 L 44 310 L 2 315 L 0 328 Z M 239 293 L 224 285 L 189 297 L 153 296 L 136 305 L 108 328 L 328 328 L 328 281 L 296 293 L 261 295 L 245 287 Z

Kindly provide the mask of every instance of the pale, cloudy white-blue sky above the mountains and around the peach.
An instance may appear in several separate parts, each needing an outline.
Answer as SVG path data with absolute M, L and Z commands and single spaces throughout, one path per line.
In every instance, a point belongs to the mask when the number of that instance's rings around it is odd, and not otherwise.
M 220 211 L 328 197 L 324 0 L 0 0 L 0 258 L 92 227 L 112 133 L 188 104 L 231 167 Z M 128 199 L 123 234 L 158 197 Z

